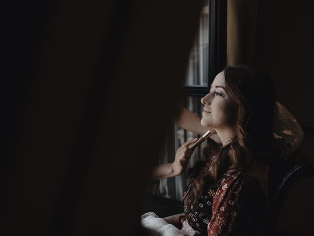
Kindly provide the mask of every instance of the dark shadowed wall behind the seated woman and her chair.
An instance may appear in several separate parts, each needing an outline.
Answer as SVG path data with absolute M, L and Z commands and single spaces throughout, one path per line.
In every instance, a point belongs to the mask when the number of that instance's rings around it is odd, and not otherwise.
M 254 64 L 270 73 L 277 100 L 303 125 L 304 141 L 299 150 L 314 164 L 313 20 L 310 1 L 259 1 Z M 281 213 L 280 228 L 313 234 L 313 186 L 314 178 L 300 179 L 291 189 Z

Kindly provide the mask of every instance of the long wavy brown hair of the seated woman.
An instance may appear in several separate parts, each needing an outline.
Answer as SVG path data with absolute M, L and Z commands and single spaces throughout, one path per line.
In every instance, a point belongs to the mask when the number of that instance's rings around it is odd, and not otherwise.
M 203 149 L 204 160 L 188 170 L 194 178 L 184 202 L 197 204 L 205 182 L 216 183 L 227 171 L 247 170 L 261 152 L 267 152 L 273 124 L 275 93 L 271 78 L 247 66 L 227 66 L 226 91 L 235 104 L 235 136 L 221 147 L 210 142 Z M 209 164 L 212 157 L 215 157 Z

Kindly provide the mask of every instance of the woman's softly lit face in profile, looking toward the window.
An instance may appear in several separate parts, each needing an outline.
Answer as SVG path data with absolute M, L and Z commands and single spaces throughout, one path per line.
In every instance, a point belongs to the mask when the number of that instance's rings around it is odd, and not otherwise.
M 220 72 L 212 82 L 209 93 L 201 99 L 204 105 L 201 124 L 214 129 L 233 127 L 235 105 L 226 91 L 224 72 Z

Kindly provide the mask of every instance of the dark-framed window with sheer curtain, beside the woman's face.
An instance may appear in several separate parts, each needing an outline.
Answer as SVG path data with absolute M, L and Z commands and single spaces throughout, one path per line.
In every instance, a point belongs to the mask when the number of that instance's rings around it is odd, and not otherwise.
M 195 37 L 182 87 L 182 104 L 201 116 L 201 97 L 209 91 L 215 75 L 226 65 L 226 0 L 204 0 L 199 30 Z M 198 135 L 173 124 L 160 152 L 159 164 L 173 162 L 177 148 Z M 165 178 L 153 184 L 153 194 L 181 201 L 188 184 L 187 169 L 201 158 L 204 142 L 194 150 L 192 158 L 181 176 Z

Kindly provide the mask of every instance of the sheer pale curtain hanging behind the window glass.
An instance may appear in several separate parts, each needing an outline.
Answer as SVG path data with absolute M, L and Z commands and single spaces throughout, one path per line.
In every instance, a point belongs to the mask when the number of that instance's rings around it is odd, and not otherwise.
M 195 37 L 194 45 L 191 50 L 190 60 L 187 67 L 185 86 L 208 86 L 209 77 L 209 0 L 204 1 L 198 33 Z M 188 110 L 201 116 L 202 104 L 201 97 L 185 96 L 183 106 Z M 159 154 L 159 164 L 173 162 L 177 148 L 187 140 L 199 137 L 198 135 L 183 130 L 174 125 L 165 139 L 165 146 Z M 153 194 L 162 197 L 176 199 L 181 201 L 184 190 L 189 179 L 187 178 L 187 169 L 202 157 L 202 149 L 206 146 L 204 142 L 194 150 L 194 153 L 185 169 L 185 172 L 178 177 L 161 179 L 155 182 Z

